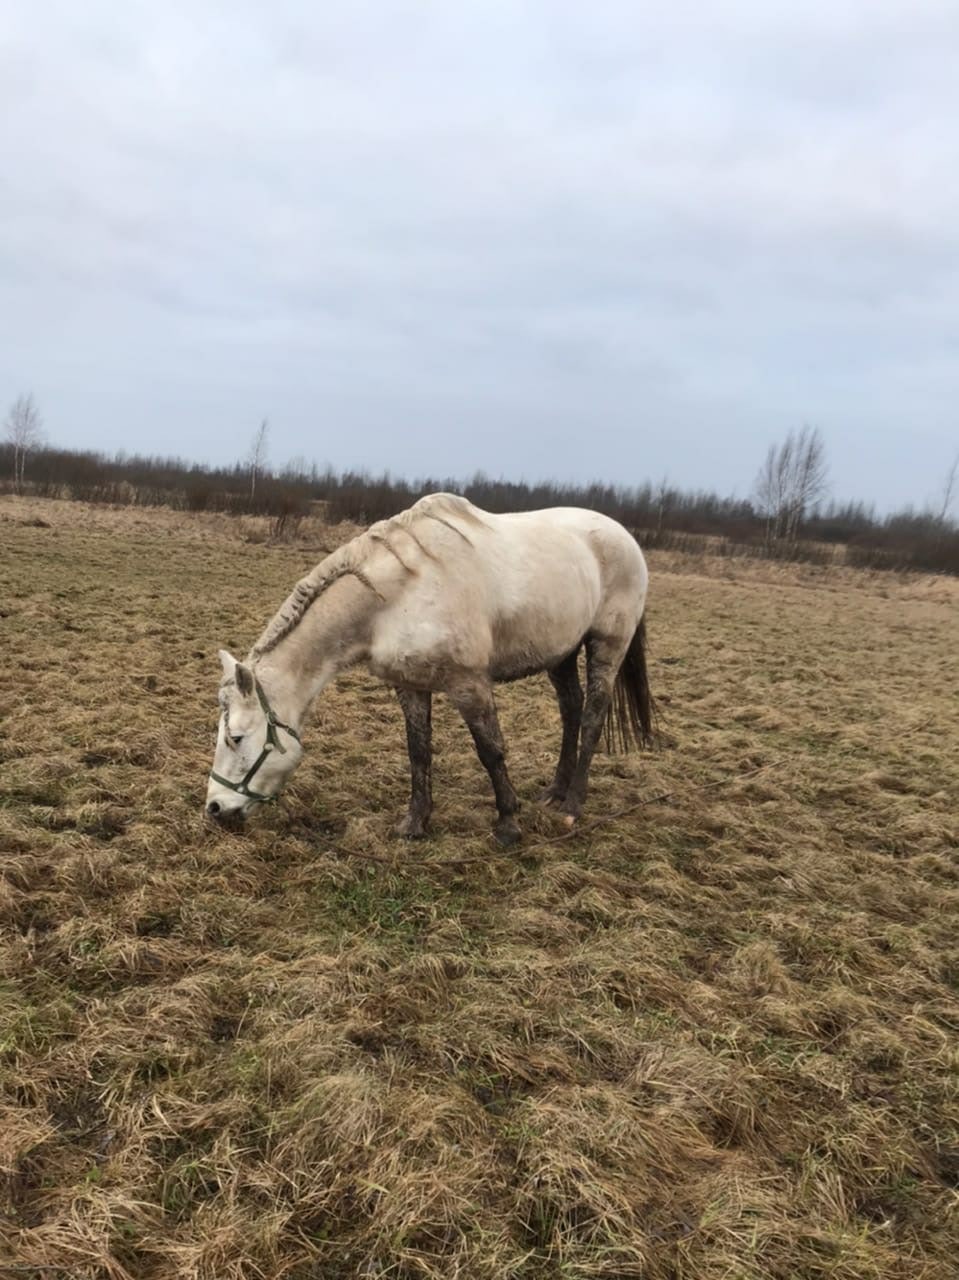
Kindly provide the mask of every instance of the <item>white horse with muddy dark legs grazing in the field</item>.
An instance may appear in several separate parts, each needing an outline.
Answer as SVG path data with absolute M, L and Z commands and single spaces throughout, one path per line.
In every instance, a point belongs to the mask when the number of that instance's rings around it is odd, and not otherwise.
M 572 824 L 603 728 L 624 746 L 650 737 L 647 581 L 636 540 L 594 511 L 494 516 L 453 494 L 421 498 L 297 582 L 246 662 L 220 650 L 207 814 L 239 818 L 279 795 L 302 755 L 300 733 L 314 699 L 362 663 L 396 689 L 406 717 L 412 795 L 398 835 L 426 835 L 431 695 L 444 692 L 493 783 L 497 838 L 520 838 L 493 685 L 540 671 L 553 684 L 563 726 L 543 799 Z

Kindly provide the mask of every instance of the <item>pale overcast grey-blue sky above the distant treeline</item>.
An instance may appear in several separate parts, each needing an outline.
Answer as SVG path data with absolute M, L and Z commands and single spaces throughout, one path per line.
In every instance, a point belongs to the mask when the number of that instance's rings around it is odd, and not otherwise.
M 959 449 L 956 0 L 0 0 L 0 415 L 837 497 Z

